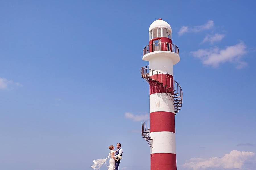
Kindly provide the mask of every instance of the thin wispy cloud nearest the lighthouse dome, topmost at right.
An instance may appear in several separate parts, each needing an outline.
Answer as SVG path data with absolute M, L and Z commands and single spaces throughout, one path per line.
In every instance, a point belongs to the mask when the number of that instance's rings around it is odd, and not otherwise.
M 192 27 L 188 27 L 188 26 L 182 26 L 179 29 L 179 36 L 183 35 L 184 33 L 187 32 L 201 32 L 207 29 L 211 29 L 214 26 L 214 22 L 212 20 L 207 21 L 207 23 L 203 24 L 203 25 L 197 25 L 197 26 L 192 26 Z

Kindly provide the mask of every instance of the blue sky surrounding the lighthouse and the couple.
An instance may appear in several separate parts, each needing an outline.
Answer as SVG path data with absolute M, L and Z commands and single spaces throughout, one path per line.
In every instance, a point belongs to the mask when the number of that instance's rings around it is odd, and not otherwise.
M 121 170 L 149 169 L 140 133 L 149 87 L 140 68 L 148 65 L 143 48 L 158 18 L 171 25 L 180 52 L 178 169 L 200 169 L 205 161 L 215 162 L 208 169 L 239 161 L 238 168 L 255 169 L 255 5 L 1 1 L 0 169 L 91 169 L 117 142 Z

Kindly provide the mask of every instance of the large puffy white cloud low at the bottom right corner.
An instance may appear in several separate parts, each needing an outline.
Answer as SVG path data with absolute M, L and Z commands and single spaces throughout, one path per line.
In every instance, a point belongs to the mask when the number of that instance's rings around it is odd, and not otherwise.
M 191 158 L 189 162 L 183 164 L 183 167 L 193 170 L 233 168 L 247 169 L 245 164 L 248 162 L 250 162 L 250 166 L 255 165 L 256 158 L 254 152 L 240 152 L 238 150 L 232 150 L 229 154 L 224 155 L 222 158 Z

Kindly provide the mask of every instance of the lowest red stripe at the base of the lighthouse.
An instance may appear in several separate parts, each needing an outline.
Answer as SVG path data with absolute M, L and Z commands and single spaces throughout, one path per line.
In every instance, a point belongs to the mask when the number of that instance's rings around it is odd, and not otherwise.
M 150 170 L 177 170 L 176 154 L 150 154 Z

